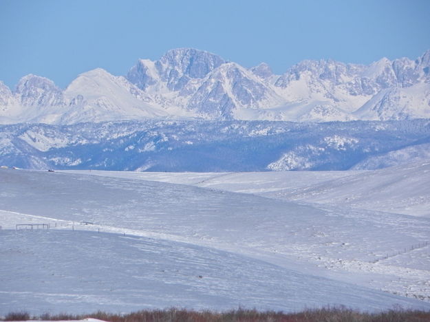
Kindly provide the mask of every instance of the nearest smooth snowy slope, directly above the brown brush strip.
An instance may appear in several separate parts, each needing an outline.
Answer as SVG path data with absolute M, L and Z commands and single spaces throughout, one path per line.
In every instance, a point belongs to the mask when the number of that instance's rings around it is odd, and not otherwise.
M 2 281 L 0 314 L 23 308 L 35 314 L 131 312 L 172 305 L 195 310 L 284 311 L 324 303 L 347 303 L 362 310 L 389 309 L 394 304 L 428 307 L 351 283 L 177 241 L 70 229 L 6 230 L 0 241 L 8 257 L 7 263 L 4 257 L 0 260 L 1 276 L 9 277 Z M 291 292 L 294 301 L 288 301 Z

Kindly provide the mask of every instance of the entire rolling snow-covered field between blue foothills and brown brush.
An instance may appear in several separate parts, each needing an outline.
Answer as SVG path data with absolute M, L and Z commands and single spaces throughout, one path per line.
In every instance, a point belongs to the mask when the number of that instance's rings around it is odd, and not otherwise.
M 429 209 L 422 162 L 344 172 L 0 169 L 0 315 L 430 310 Z

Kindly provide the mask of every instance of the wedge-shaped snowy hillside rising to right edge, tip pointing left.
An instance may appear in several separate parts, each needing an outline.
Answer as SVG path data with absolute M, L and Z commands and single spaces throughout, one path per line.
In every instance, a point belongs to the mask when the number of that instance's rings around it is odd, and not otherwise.
M 307 189 L 283 189 L 271 195 L 430 218 L 430 162 L 427 159 L 400 167 L 352 173 Z

